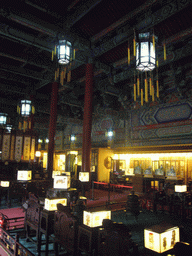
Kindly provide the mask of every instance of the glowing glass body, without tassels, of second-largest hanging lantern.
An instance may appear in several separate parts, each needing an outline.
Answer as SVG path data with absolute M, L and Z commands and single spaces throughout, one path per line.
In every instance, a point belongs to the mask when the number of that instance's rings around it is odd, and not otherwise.
M 72 44 L 67 40 L 59 40 L 57 46 L 58 63 L 67 65 L 72 59 Z

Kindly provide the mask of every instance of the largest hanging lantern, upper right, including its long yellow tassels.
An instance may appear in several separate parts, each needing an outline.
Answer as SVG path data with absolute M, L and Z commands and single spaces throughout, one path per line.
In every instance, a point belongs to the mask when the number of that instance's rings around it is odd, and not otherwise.
M 156 58 L 156 41 L 154 33 L 134 32 L 133 55 L 136 59 L 136 71 L 134 72 L 134 101 L 140 98 L 141 105 L 144 101 L 155 101 L 155 95 L 159 98 L 158 61 Z M 128 45 L 128 64 L 130 64 L 130 47 Z M 153 72 L 156 69 L 156 86 L 154 88 Z

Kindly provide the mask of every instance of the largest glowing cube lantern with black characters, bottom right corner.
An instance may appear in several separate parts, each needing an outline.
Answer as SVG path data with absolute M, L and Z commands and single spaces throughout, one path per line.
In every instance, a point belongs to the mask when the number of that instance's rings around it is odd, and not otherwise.
M 179 227 L 155 225 L 144 230 L 145 248 L 163 253 L 180 241 Z

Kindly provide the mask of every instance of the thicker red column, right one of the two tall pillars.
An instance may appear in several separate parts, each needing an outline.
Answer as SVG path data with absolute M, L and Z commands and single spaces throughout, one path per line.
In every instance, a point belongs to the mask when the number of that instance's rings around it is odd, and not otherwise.
M 83 172 L 90 172 L 92 97 L 93 97 L 93 64 L 88 63 L 86 66 L 84 116 L 83 116 L 83 148 L 82 148 L 82 171 Z

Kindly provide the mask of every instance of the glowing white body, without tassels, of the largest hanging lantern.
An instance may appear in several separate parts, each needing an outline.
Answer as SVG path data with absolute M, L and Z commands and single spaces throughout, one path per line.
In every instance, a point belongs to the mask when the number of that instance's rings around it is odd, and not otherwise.
M 136 43 L 136 69 L 139 71 L 152 71 L 156 66 L 153 36 L 150 32 L 138 34 Z

